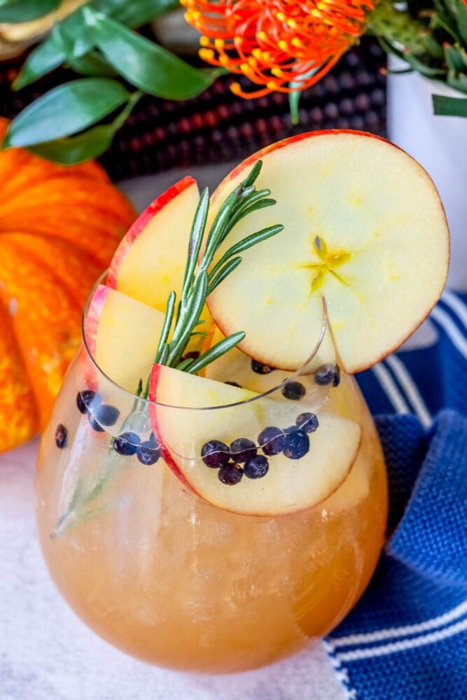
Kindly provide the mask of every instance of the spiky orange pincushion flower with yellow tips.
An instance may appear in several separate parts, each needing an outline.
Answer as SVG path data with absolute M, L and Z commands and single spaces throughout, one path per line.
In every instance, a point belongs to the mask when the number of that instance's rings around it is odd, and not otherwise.
M 373 0 L 181 0 L 203 34 L 200 56 L 256 85 L 241 97 L 303 90 L 316 83 L 365 31 Z M 298 83 L 290 87 L 288 83 Z

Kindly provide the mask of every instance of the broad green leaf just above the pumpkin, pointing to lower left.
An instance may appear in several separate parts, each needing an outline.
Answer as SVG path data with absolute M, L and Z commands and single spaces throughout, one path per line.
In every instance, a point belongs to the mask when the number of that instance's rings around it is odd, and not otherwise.
M 125 87 L 110 78 L 81 78 L 64 83 L 15 117 L 2 148 L 35 146 L 76 134 L 118 109 L 129 98 Z

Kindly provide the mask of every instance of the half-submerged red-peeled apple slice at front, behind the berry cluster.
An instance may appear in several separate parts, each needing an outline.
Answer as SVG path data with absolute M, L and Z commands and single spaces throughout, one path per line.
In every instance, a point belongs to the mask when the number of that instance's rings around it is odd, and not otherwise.
M 153 365 L 149 398 L 158 402 L 150 405 L 151 426 L 167 465 L 204 500 L 232 512 L 273 516 L 321 503 L 344 481 L 358 454 L 358 423 L 321 413 L 300 458 L 286 456 L 284 447 L 267 458 L 269 470 L 262 478 L 243 475 L 238 483 L 225 484 L 219 470 L 204 463 L 205 444 L 220 440 L 229 445 L 243 437 L 261 455 L 260 433 L 269 426 L 287 432 L 304 406 L 161 365 Z

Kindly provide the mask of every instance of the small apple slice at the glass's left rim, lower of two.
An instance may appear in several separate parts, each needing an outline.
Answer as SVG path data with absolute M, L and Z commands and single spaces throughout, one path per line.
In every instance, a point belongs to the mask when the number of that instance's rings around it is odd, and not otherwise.
M 157 309 L 99 284 L 85 315 L 86 344 L 104 374 L 134 392 L 151 372 L 163 323 Z

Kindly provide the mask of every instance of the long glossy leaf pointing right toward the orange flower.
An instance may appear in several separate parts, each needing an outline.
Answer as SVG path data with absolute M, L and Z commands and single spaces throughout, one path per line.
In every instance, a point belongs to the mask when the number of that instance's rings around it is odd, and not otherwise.
M 196 69 L 179 57 L 88 6 L 83 14 L 93 43 L 109 63 L 148 94 L 189 99 L 206 90 L 223 69 Z

